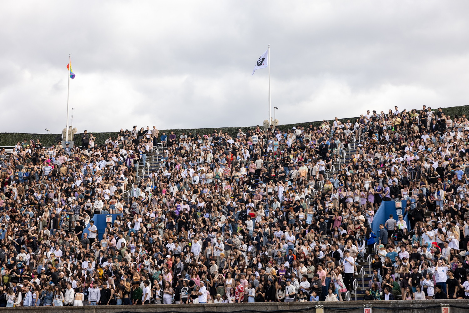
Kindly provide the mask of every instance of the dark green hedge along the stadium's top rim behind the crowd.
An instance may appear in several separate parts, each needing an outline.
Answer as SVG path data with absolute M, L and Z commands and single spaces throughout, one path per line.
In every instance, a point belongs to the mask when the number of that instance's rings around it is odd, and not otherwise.
M 417 108 L 417 111 L 420 110 L 421 108 Z M 433 110 L 436 110 L 437 107 L 434 107 Z M 443 108 L 443 111 L 446 113 L 446 115 L 450 115 L 451 118 L 454 120 L 454 116 L 462 116 L 462 115 L 468 115 L 469 116 L 469 106 L 461 106 L 461 107 L 445 107 Z M 385 111 L 386 112 L 386 111 Z M 365 112 L 363 112 L 365 113 Z M 347 120 L 350 120 L 350 122 L 354 123 L 355 119 L 357 117 L 348 117 L 348 118 L 340 118 L 340 122 L 346 123 Z M 331 122 L 333 120 L 330 120 Z M 311 122 L 302 122 L 302 123 L 295 123 L 295 124 L 283 124 L 279 125 L 280 130 L 288 130 L 292 129 L 293 126 L 298 127 L 298 126 L 303 126 L 305 129 L 309 127 L 310 124 L 313 126 L 320 126 L 322 123 L 322 120 L 319 121 L 311 121 Z M 264 127 L 263 125 L 259 124 L 261 129 Z M 248 126 L 248 127 L 227 127 L 227 128 L 221 128 L 223 132 L 227 132 L 230 136 L 236 137 L 238 130 L 241 129 L 243 132 L 246 132 L 247 130 L 254 130 L 256 126 Z M 197 134 L 200 134 L 201 136 L 203 135 L 208 135 L 213 133 L 214 130 L 219 131 L 220 128 L 194 128 L 194 129 L 169 129 L 169 130 L 159 130 L 159 133 L 162 134 L 163 132 L 166 133 L 166 135 L 169 136 L 171 131 L 174 131 L 174 134 L 179 137 L 182 132 L 185 132 L 186 135 L 191 132 L 194 136 Z M 88 133 L 92 133 L 94 137 L 96 137 L 96 142 L 95 144 L 97 145 L 103 145 L 104 142 L 106 141 L 107 138 L 109 137 L 116 137 L 117 132 L 93 132 L 89 131 Z M 75 144 L 76 145 L 81 145 L 81 136 L 83 133 L 76 133 L 74 136 L 75 139 Z M 0 146 L 14 146 L 18 141 L 23 141 L 23 138 L 26 139 L 39 139 L 44 146 L 50 146 L 55 144 L 60 138 L 62 137 L 61 134 L 27 134 L 27 133 L 0 133 Z

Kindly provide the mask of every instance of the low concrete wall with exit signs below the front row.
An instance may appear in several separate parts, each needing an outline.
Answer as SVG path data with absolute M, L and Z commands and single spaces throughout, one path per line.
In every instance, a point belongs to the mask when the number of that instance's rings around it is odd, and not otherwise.
M 196 304 L 196 305 L 112 305 L 63 307 L 1 307 L 0 313 L 149 313 L 149 312 L 236 312 L 236 311 L 291 311 L 315 313 L 315 305 L 324 305 L 325 313 L 363 312 L 363 304 L 372 304 L 373 313 L 404 311 L 406 313 L 441 313 L 440 303 L 466 308 L 450 307 L 449 313 L 469 312 L 469 300 L 397 300 L 397 301 L 342 301 L 342 302 L 280 302 L 250 304 Z M 354 310 L 355 309 L 355 310 Z M 391 311 L 392 310 L 392 311 Z

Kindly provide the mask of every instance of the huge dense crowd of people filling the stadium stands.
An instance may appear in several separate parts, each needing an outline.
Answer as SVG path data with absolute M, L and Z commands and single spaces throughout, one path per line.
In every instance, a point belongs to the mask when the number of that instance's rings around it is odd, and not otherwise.
M 468 134 L 464 115 L 424 106 L 231 135 L 26 138 L 0 153 L 0 306 L 343 301 L 369 255 L 359 298 L 469 298 Z M 102 232 L 95 214 L 117 215 Z

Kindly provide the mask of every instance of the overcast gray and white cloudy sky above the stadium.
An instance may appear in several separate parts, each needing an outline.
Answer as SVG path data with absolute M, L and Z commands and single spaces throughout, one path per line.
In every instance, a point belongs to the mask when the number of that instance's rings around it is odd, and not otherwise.
M 2 1 L 0 132 L 250 126 L 468 104 L 467 1 Z M 70 110 L 71 111 L 71 110 Z M 272 113 L 273 117 L 273 113 Z

